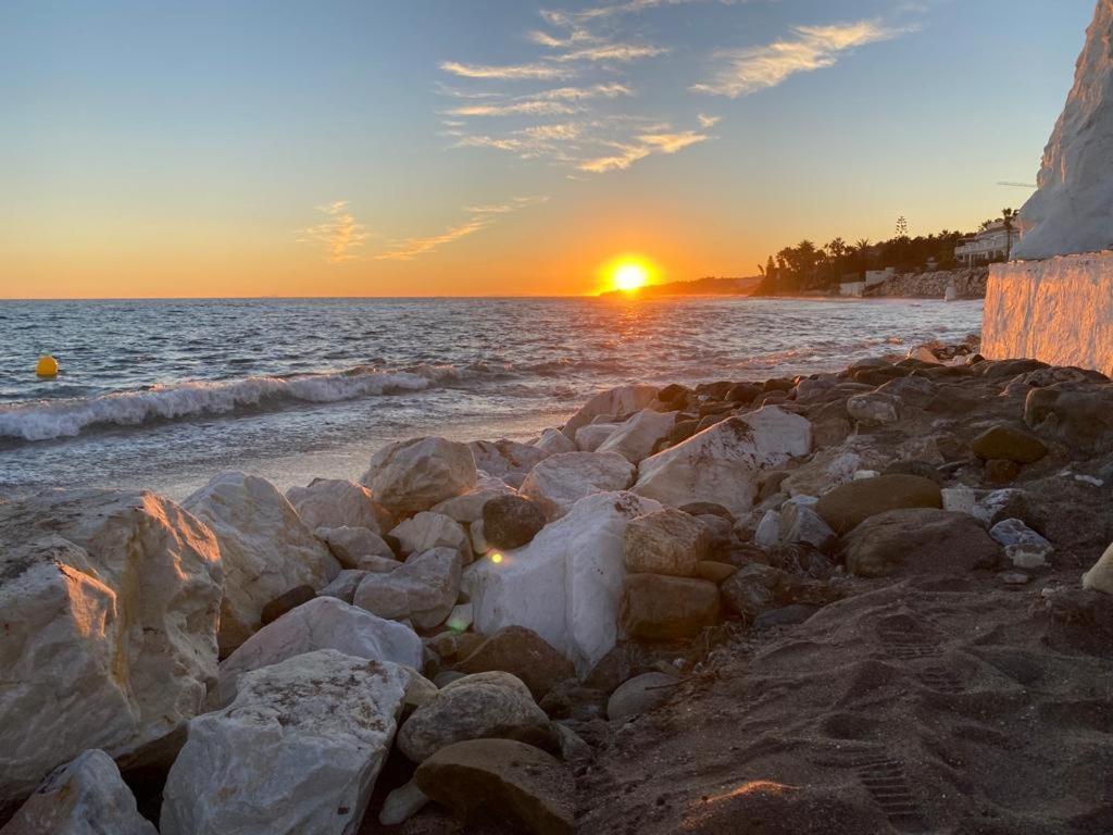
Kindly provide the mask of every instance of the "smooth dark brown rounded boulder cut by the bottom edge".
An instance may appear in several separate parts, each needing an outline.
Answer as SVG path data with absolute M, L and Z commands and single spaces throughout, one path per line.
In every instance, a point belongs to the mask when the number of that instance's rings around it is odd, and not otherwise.
M 512 739 L 443 748 L 414 779 L 465 822 L 506 823 L 530 835 L 571 835 L 574 828 L 572 775 L 543 750 Z

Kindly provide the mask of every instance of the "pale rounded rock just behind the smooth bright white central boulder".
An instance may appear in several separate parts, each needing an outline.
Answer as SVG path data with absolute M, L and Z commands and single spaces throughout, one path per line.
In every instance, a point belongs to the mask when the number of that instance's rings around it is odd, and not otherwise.
M 613 452 L 567 452 L 534 466 L 522 482 L 521 492 L 553 521 L 585 495 L 626 490 L 633 477 L 633 465 Z

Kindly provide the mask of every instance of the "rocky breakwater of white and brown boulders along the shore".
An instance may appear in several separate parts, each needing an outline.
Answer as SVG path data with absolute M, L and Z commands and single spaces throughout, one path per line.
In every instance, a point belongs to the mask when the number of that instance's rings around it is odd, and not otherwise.
M 0 832 L 612 831 L 623 739 L 859 596 L 1031 586 L 1113 636 L 1111 405 L 936 346 L 624 386 L 361 483 L 0 505 Z

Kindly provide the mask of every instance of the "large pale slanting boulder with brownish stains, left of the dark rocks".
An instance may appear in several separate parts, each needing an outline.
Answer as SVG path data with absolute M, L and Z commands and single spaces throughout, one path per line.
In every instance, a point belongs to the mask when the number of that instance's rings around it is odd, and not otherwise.
M 806 418 L 766 406 L 728 418 L 638 466 L 636 493 L 663 504 L 717 502 L 736 515 L 750 512 L 762 470 L 811 450 Z

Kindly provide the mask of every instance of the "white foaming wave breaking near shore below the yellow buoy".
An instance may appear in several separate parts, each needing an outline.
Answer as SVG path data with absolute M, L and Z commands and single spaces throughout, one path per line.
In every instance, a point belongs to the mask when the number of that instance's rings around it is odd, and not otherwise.
M 156 385 L 145 391 L 96 397 L 38 401 L 0 409 L 0 438 L 49 441 L 72 438 L 96 425 L 137 426 L 149 421 L 227 414 L 238 409 L 284 403 L 334 403 L 383 394 L 423 391 L 455 379 L 451 366 L 384 372 L 361 367 L 288 377 L 250 376 L 220 382 Z

